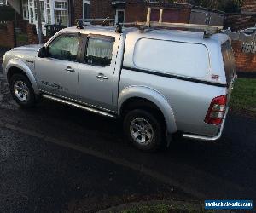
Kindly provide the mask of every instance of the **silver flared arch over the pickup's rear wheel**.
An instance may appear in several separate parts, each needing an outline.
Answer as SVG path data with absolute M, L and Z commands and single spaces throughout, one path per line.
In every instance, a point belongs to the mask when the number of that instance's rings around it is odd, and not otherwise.
M 151 106 L 158 110 L 166 123 L 166 130 L 168 133 L 177 132 L 177 124 L 175 122 L 172 107 L 166 101 L 166 98 L 158 91 L 144 87 L 144 86 L 131 86 L 123 89 L 119 94 L 118 100 L 118 114 L 121 117 L 125 111 L 125 107 L 135 101 L 140 102 L 139 105 L 143 106 L 151 104 Z

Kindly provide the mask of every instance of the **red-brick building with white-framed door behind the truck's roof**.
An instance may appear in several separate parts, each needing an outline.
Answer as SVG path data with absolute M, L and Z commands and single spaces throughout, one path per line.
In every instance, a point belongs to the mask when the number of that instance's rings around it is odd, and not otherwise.
M 171 22 L 189 21 L 190 5 L 186 1 L 177 1 L 177 3 L 168 3 L 168 1 L 99 1 L 99 0 L 76 0 L 74 1 L 75 19 L 104 19 L 109 18 L 115 23 L 145 21 L 147 17 L 147 8 L 153 7 L 152 20 L 158 20 L 158 7 L 172 9 L 172 15 L 169 15 Z M 170 14 L 170 13 L 169 13 Z

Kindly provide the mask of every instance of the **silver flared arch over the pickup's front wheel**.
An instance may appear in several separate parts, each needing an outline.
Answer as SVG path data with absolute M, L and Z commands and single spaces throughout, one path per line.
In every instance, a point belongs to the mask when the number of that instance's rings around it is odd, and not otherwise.
M 6 77 L 9 82 L 12 75 L 15 73 L 20 73 L 26 76 L 32 84 L 32 88 L 35 94 L 40 94 L 38 89 L 38 84 L 31 69 L 22 60 L 10 60 L 6 66 Z

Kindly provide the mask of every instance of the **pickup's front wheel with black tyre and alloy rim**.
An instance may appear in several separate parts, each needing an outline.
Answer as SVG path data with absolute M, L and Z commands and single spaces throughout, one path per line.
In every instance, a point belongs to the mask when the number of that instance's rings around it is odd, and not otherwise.
M 20 107 L 33 107 L 36 104 L 36 95 L 28 78 L 22 74 L 14 74 L 10 78 L 10 93 Z

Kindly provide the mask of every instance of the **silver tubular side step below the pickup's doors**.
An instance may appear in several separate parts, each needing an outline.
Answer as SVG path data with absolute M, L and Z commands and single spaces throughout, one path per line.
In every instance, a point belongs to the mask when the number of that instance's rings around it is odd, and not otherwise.
M 92 108 L 92 107 L 85 107 L 85 106 L 80 105 L 78 103 L 63 100 L 61 98 L 57 98 L 57 97 L 52 96 L 52 95 L 43 95 L 43 97 L 46 98 L 46 99 L 52 100 L 52 101 L 56 101 L 56 102 L 59 102 L 59 103 L 62 103 L 62 104 L 72 106 L 72 107 L 77 107 L 77 108 L 80 108 L 80 109 L 84 109 L 84 110 L 89 111 L 89 112 L 94 112 L 96 114 L 100 114 L 100 115 L 105 116 L 105 117 L 115 118 L 115 116 L 113 114 L 110 114 L 108 112 L 103 112 L 101 110 L 98 110 L 98 109 L 95 109 L 95 108 Z

